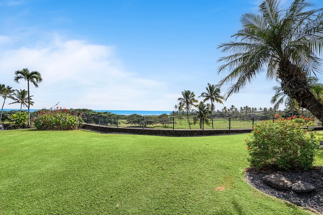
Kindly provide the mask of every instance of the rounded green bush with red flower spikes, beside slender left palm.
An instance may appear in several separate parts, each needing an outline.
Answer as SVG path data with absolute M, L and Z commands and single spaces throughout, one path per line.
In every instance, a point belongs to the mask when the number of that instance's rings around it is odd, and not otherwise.
M 62 107 L 37 111 L 32 121 L 39 130 L 73 130 L 83 122 L 79 114 Z

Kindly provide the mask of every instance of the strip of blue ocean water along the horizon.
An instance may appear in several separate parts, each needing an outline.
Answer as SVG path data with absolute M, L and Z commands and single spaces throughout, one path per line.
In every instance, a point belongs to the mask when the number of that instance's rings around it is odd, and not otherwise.
M 4 111 L 11 111 L 11 110 L 19 110 L 19 109 L 4 109 Z M 27 109 L 23 109 L 25 111 L 27 111 Z M 36 111 L 38 109 L 30 109 L 30 112 Z M 170 114 L 173 111 L 151 111 L 151 110 L 93 110 L 96 112 L 111 112 L 114 114 L 118 114 L 118 115 L 131 115 L 131 114 L 139 114 L 142 116 L 159 116 L 161 114 Z

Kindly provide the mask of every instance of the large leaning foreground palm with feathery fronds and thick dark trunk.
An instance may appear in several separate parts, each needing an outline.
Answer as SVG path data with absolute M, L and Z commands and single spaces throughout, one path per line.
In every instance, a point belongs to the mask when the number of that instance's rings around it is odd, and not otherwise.
M 321 69 L 317 54 L 323 50 L 323 9 L 312 9 L 306 0 L 294 0 L 283 10 L 279 2 L 265 0 L 259 6 L 260 14 L 245 14 L 241 18 L 243 28 L 233 35 L 240 41 L 219 46 L 223 52 L 233 52 L 219 59 L 226 63 L 218 73 L 232 69 L 219 87 L 237 80 L 229 88 L 228 98 L 266 71 L 268 79 L 279 80 L 285 94 L 323 121 L 323 104 L 306 80 Z M 305 11 L 307 8 L 310 10 Z

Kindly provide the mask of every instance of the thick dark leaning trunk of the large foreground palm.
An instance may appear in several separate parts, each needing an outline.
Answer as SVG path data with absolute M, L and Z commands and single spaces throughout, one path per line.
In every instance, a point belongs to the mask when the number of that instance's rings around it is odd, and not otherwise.
M 279 65 L 278 77 L 282 80 L 281 86 L 284 93 L 296 99 L 300 107 L 306 108 L 323 122 L 323 104 L 312 94 L 304 73 L 286 60 Z

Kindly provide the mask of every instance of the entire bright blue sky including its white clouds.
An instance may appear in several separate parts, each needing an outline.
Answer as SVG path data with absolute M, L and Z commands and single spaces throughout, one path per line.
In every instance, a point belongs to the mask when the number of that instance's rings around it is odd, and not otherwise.
M 285 8 L 291 2 L 281 1 Z M 320 0 L 310 2 L 323 8 Z M 197 97 L 207 83 L 226 76 L 217 74 L 225 55 L 217 47 L 260 3 L 0 0 L 0 84 L 27 89 L 13 79 L 16 70 L 28 68 L 43 78 L 39 88 L 30 88 L 33 109 L 60 102 L 74 109 L 172 111 L 182 91 Z M 273 86 L 278 83 L 259 76 L 216 109 L 272 107 Z M 5 109 L 20 108 L 10 102 Z

